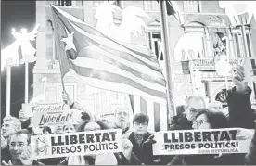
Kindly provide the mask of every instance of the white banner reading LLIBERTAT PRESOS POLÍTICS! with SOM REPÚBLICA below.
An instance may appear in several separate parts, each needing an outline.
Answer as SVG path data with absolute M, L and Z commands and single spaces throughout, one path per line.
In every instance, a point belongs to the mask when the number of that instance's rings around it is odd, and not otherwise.
M 242 128 L 160 131 L 154 155 L 248 153 L 253 132 Z

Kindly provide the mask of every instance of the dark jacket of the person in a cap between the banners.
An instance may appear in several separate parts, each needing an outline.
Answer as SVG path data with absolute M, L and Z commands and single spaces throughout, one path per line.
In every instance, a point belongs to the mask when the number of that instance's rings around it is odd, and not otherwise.
M 144 136 L 143 138 L 143 141 L 141 144 L 138 144 L 135 140 L 135 137 L 134 137 L 134 132 L 132 132 L 130 134 L 130 136 L 128 137 L 128 139 L 132 142 L 132 144 L 134 145 L 133 147 L 133 152 L 134 154 L 136 155 L 136 157 L 144 164 L 148 164 L 147 163 L 147 159 L 145 157 L 145 153 L 143 152 L 143 148 L 142 148 L 142 145 L 143 143 L 147 140 L 147 138 L 150 136 L 151 134 L 149 134 L 147 132 L 147 134 Z

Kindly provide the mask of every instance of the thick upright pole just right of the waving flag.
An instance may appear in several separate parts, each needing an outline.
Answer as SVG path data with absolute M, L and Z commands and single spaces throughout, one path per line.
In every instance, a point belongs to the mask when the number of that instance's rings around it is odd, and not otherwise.
M 175 114 L 173 109 L 173 76 L 172 76 L 172 66 L 171 62 L 171 50 L 168 39 L 168 19 L 166 10 L 166 1 L 160 0 L 160 25 L 161 25 L 161 40 L 163 42 L 163 52 L 166 70 L 166 80 L 167 80 L 167 108 L 168 113 L 172 117 Z M 173 111 L 173 112 L 171 112 Z M 168 116 L 169 117 L 169 116 Z

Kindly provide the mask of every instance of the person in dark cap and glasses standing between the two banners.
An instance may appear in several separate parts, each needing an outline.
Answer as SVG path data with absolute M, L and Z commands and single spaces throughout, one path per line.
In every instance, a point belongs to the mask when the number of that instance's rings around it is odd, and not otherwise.
M 147 140 L 147 138 L 151 135 L 147 131 L 149 122 L 149 117 L 144 113 L 137 113 L 134 115 L 134 128 L 132 133 L 128 133 L 124 135 L 124 137 L 128 137 L 128 139 L 132 142 L 133 152 L 138 157 L 138 159 L 147 164 L 147 159 L 142 149 L 143 143 Z

